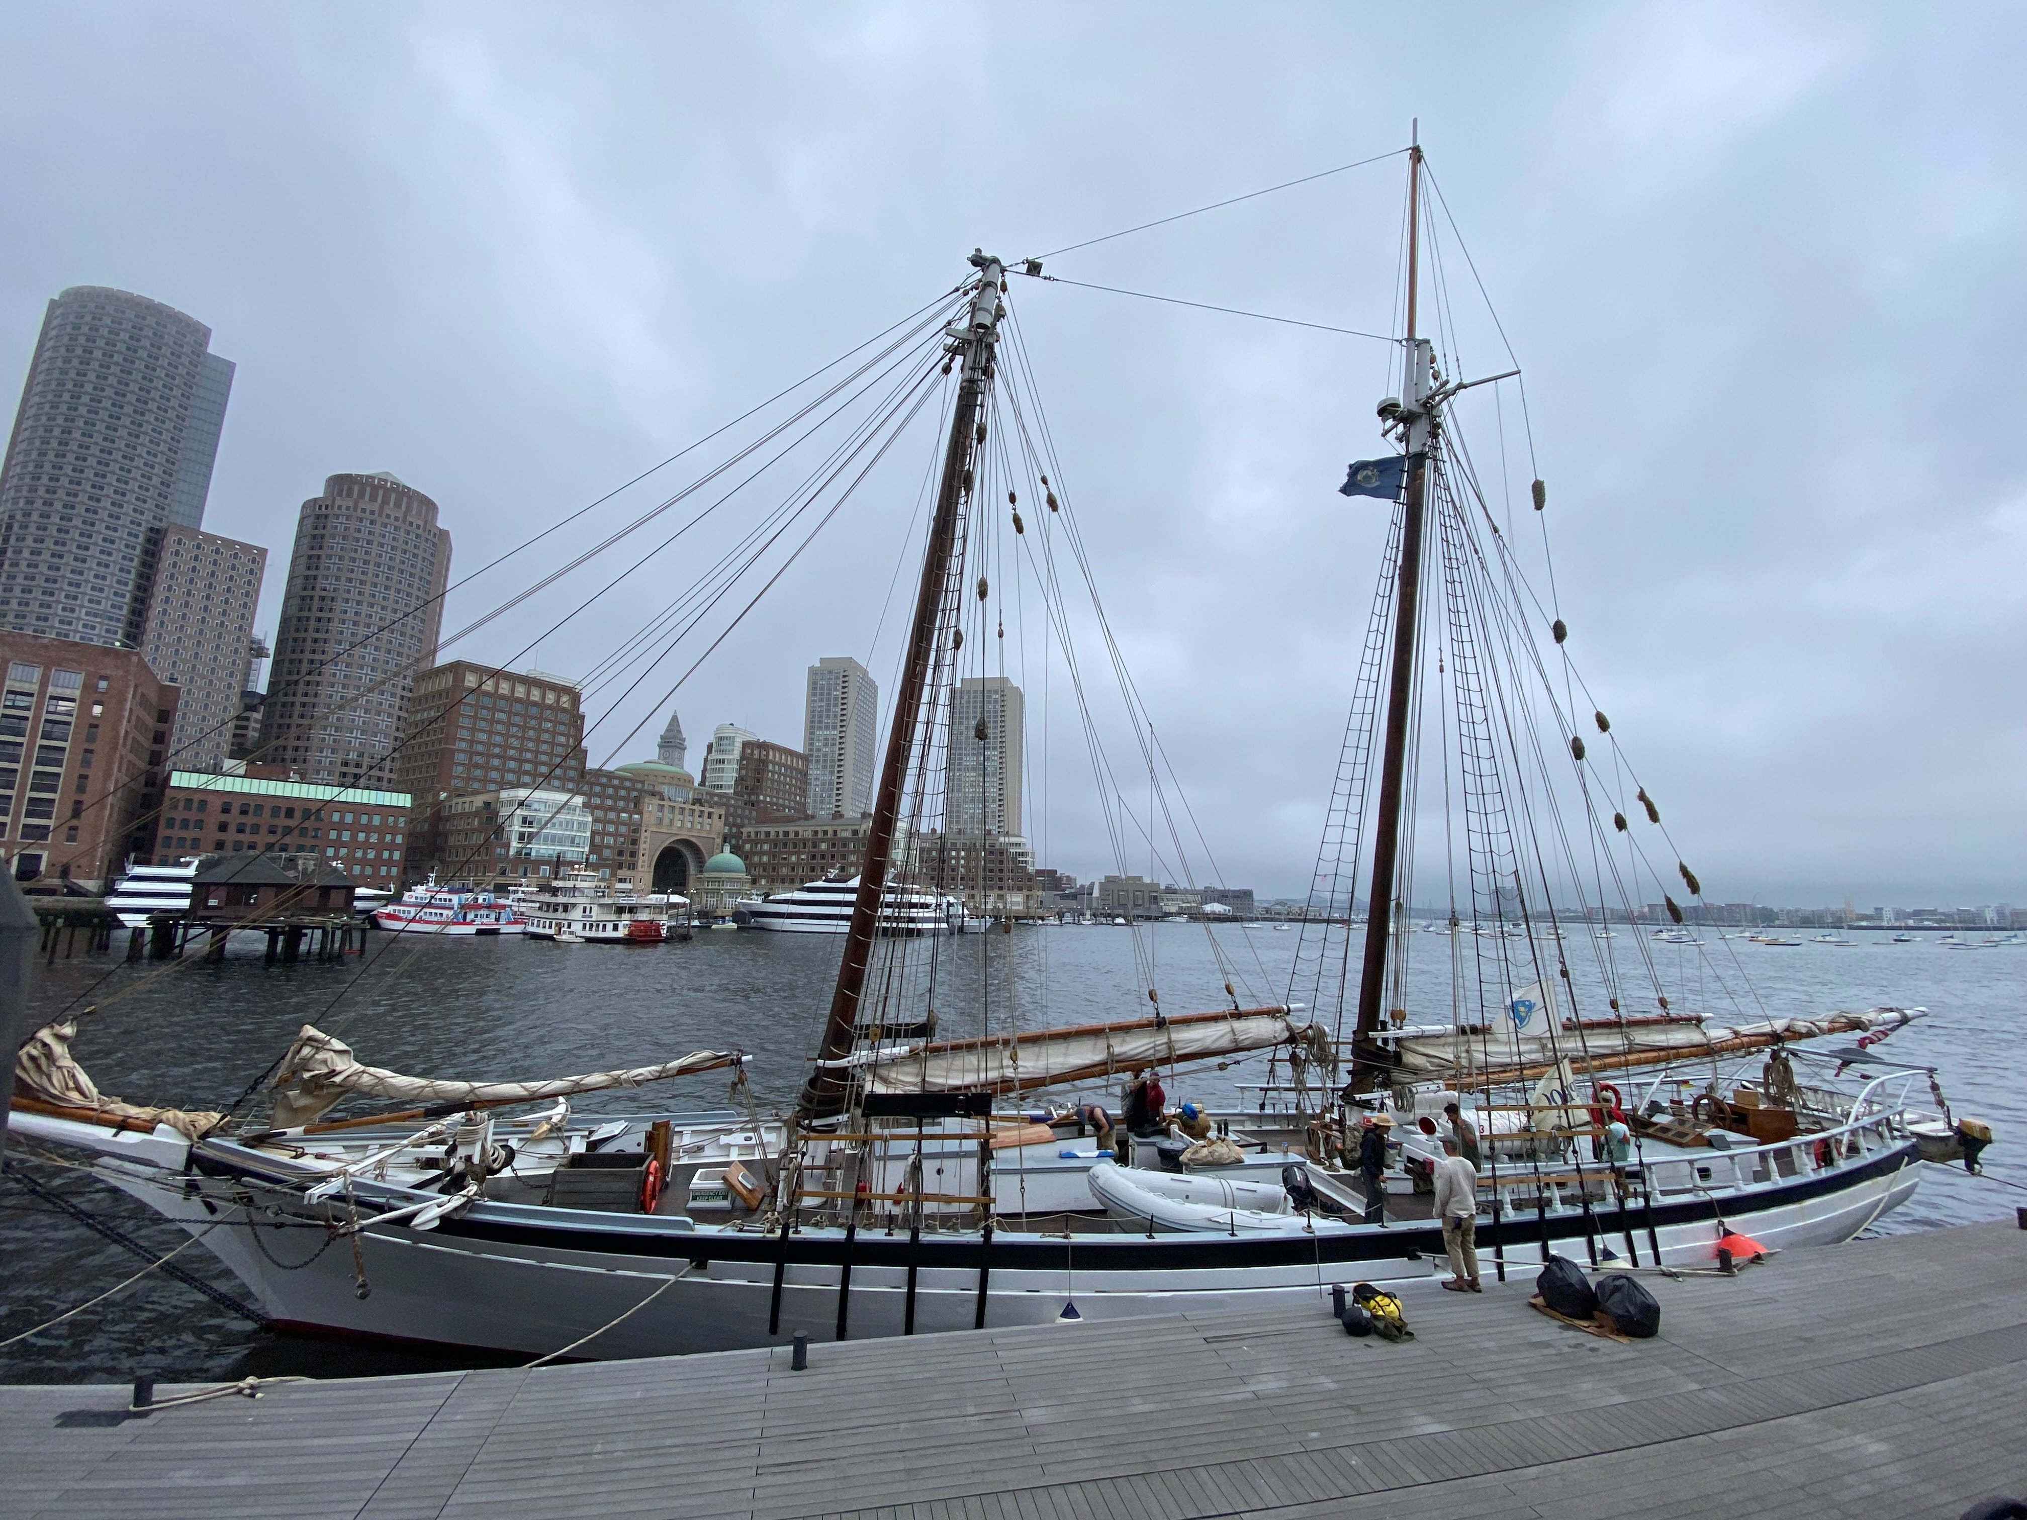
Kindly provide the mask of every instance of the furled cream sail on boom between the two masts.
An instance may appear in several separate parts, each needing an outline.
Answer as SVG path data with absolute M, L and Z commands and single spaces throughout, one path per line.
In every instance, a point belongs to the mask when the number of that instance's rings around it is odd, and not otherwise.
M 825 1064 L 857 1074 L 868 1092 L 1032 1092 L 1058 1082 L 1131 1072 L 1135 1066 L 1170 1066 L 1273 1046 L 1291 1046 L 1299 1058 L 1328 1056 L 1320 1025 L 1295 1023 L 1281 1007 L 1255 1007 L 983 1040 L 876 1046 Z

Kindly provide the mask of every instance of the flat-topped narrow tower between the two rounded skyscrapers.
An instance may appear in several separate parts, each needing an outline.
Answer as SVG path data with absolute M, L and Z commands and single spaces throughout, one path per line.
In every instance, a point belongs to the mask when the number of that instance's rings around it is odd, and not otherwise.
M 217 770 L 233 750 L 266 572 L 268 551 L 257 543 L 180 523 L 162 531 L 140 653 L 182 687 L 168 736 L 168 762 L 180 770 Z

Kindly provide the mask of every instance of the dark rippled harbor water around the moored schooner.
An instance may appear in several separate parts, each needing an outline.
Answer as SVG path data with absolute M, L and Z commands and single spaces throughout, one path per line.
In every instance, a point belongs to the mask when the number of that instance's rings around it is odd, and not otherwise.
M 1311 953 L 1313 953 L 1313 934 Z M 1579 930 L 1581 934 L 1581 930 Z M 1634 1003 L 1648 959 L 1674 1007 L 1713 1023 L 1770 1015 L 1810 1017 L 1875 1005 L 1926 1007 L 1930 1017 L 1893 1036 L 1883 1056 L 1934 1064 L 1958 1115 L 1993 1123 L 1984 1177 L 1924 1167 L 1922 1192 L 1873 1232 L 1905 1232 L 2011 1216 L 2027 1204 L 2027 1100 L 2019 1070 L 2027 1040 L 2027 946 L 1954 948 L 1924 934 L 1895 944 L 1853 932 L 1853 944 L 1759 946 L 1699 930 L 1701 944 L 1654 944 L 1644 930 L 1571 946 L 1577 1011 L 1603 1013 L 1607 977 Z M 1245 1005 L 1336 1001 L 1338 963 L 1318 981 L 1295 979 L 1301 930 L 1157 924 L 1020 928 L 967 934 L 910 948 L 936 957 L 941 1034 L 1131 1019 L 1147 987 L 1170 1013 Z M 1585 936 L 1587 938 L 1587 936 Z M 592 946 L 533 940 L 416 940 L 371 934 L 369 953 L 343 965 L 264 965 L 257 936 L 241 936 L 223 965 L 128 965 L 85 957 L 36 967 L 32 997 L 45 1017 L 105 1003 L 75 1040 L 79 1062 L 103 1092 L 138 1103 L 225 1109 L 288 1048 L 304 1023 L 347 1040 L 359 1058 L 420 1076 L 505 1080 L 564 1076 L 667 1060 L 691 1050 L 738 1048 L 752 1056 L 750 1086 L 724 1072 L 634 1092 L 594 1094 L 578 1113 L 643 1109 L 744 1109 L 780 1113 L 809 1070 L 829 1005 L 841 940 L 821 934 L 699 932 L 667 946 Z M 1415 1021 L 1451 1017 L 1453 965 L 1480 977 L 1482 942 L 1413 934 L 1409 1001 Z M 1609 957 L 1609 959 L 1607 959 Z M 1512 987 L 1530 973 L 1498 971 Z M 1356 955 L 1352 957 L 1356 979 Z M 1232 995 L 1226 995 L 1226 983 Z M 1285 1068 L 1283 1068 L 1285 1070 Z M 1170 1100 L 1224 1105 L 1236 1084 L 1269 1076 L 1263 1056 L 1210 1066 L 1170 1084 Z M 1099 1096 L 1099 1088 L 1093 1088 Z M 1924 1080 L 1909 1098 L 1928 1107 Z M 257 1111 L 257 1109 L 255 1109 Z M 39 1159 L 10 1141 L 10 1165 L 28 1169 L 91 1214 L 166 1252 L 182 1238 L 138 1202 L 75 1167 Z M 178 1265 L 229 1293 L 239 1285 L 193 1246 Z M 142 1263 L 24 1192 L 0 1188 L 0 1340 L 120 1283 Z M 266 1332 L 160 1273 L 73 1319 L 0 1350 L 0 1382 L 225 1380 L 249 1374 L 367 1376 L 519 1358 L 440 1348 L 389 1348 Z

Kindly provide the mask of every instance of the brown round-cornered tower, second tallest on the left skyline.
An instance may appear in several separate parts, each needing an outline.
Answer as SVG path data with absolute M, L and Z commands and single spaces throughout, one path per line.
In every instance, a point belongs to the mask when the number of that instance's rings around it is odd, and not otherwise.
M 296 519 L 261 758 L 308 782 L 385 786 L 448 584 L 434 501 L 391 474 L 324 480 Z

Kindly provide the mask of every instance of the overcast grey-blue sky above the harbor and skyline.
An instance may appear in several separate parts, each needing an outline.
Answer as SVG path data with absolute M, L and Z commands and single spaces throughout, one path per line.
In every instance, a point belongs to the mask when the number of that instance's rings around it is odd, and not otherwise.
M 1056 249 L 1388 152 L 1419 116 L 1526 369 L 1571 649 L 1705 892 L 2027 902 L 2023 77 L 2027 16 L 1999 4 L 8 4 L 0 367 L 14 385 L 73 284 L 211 324 L 239 373 L 205 525 L 270 547 L 270 632 L 328 472 L 430 492 L 464 572 L 951 288 L 975 245 Z M 1401 191 L 1388 160 L 1048 270 L 1393 330 Z M 1445 274 L 1463 367 L 1506 369 Z M 1011 296 L 1224 880 L 1305 890 L 1380 541 L 1334 486 L 1384 448 L 1386 349 Z M 1482 462 L 1496 422 L 1466 417 Z M 819 655 L 890 683 L 892 616 L 874 630 L 928 448 L 683 687 L 693 746 L 718 721 L 799 744 Z M 535 659 L 588 669 L 687 569 Z M 1052 691 L 1030 833 L 1088 876 L 1111 861 Z

